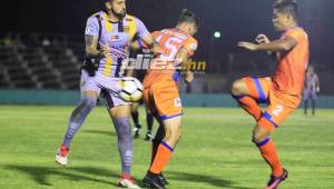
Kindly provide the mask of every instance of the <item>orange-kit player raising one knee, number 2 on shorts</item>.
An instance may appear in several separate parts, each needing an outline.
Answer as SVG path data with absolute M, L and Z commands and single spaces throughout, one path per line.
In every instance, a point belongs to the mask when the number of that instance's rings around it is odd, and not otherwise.
M 275 74 L 271 78 L 243 78 L 236 80 L 232 87 L 233 97 L 257 122 L 253 130 L 253 141 L 272 168 L 266 189 L 277 188 L 287 178 L 287 171 L 278 160 L 269 135 L 298 108 L 308 61 L 308 39 L 297 23 L 297 3 L 279 0 L 274 4 L 273 13 L 274 27 L 283 33 L 279 39 L 269 41 L 266 36 L 259 34 L 256 38 L 258 43 L 239 42 L 238 46 L 250 51 L 268 51 L 275 54 Z M 259 102 L 268 105 L 266 111 L 262 111 Z

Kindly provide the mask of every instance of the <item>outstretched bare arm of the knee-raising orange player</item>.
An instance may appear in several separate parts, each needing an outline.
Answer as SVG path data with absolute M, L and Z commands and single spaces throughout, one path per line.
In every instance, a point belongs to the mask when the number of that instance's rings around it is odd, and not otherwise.
M 297 44 L 297 41 L 292 37 L 284 37 L 283 39 L 274 40 L 267 43 L 252 43 L 240 41 L 238 42 L 238 47 L 252 50 L 252 51 L 272 51 L 272 52 L 279 52 L 279 51 L 289 51 Z

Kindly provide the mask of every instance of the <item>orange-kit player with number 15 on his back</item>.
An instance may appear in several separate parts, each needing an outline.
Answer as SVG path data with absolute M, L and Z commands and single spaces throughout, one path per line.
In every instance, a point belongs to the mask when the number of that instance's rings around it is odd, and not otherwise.
M 151 61 L 144 79 L 145 105 L 160 123 L 153 140 L 151 165 L 143 179 L 144 186 L 148 188 L 165 188 L 167 182 L 161 171 L 181 137 L 183 107 L 177 88 L 180 74 L 178 68 L 185 66 L 197 49 L 197 41 L 191 37 L 197 28 L 198 20 L 191 12 L 184 10 L 176 28 L 153 33 L 165 53 Z M 187 70 L 185 82 L 189 83 L 193 79 L 193 72 Z

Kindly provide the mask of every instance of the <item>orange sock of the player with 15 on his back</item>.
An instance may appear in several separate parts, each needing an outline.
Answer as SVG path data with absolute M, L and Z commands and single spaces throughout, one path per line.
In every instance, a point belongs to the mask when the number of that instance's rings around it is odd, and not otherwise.
M 158 147 L 156 158 L 149 168 L 149 171 L 153 173 L 160 173 L 167 166 L 169 159 L 171 158 L 171 155 L 173 148 L 169 147 L 166 142 L 161 141 Z

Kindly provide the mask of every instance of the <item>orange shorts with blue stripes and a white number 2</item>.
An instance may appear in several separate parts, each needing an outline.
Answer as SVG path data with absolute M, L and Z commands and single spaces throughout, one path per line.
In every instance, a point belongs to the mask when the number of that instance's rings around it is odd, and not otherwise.
M 258 126 L 271 132 L 278 128 L 299 106 L 299 96 L 286 94 L 275 90 L 271 78 L 247 77 L 243 80 L 246 82 L 252 98 L 259 103 L 266 102 L 268 105 L 263 117 L 258 120 Z

